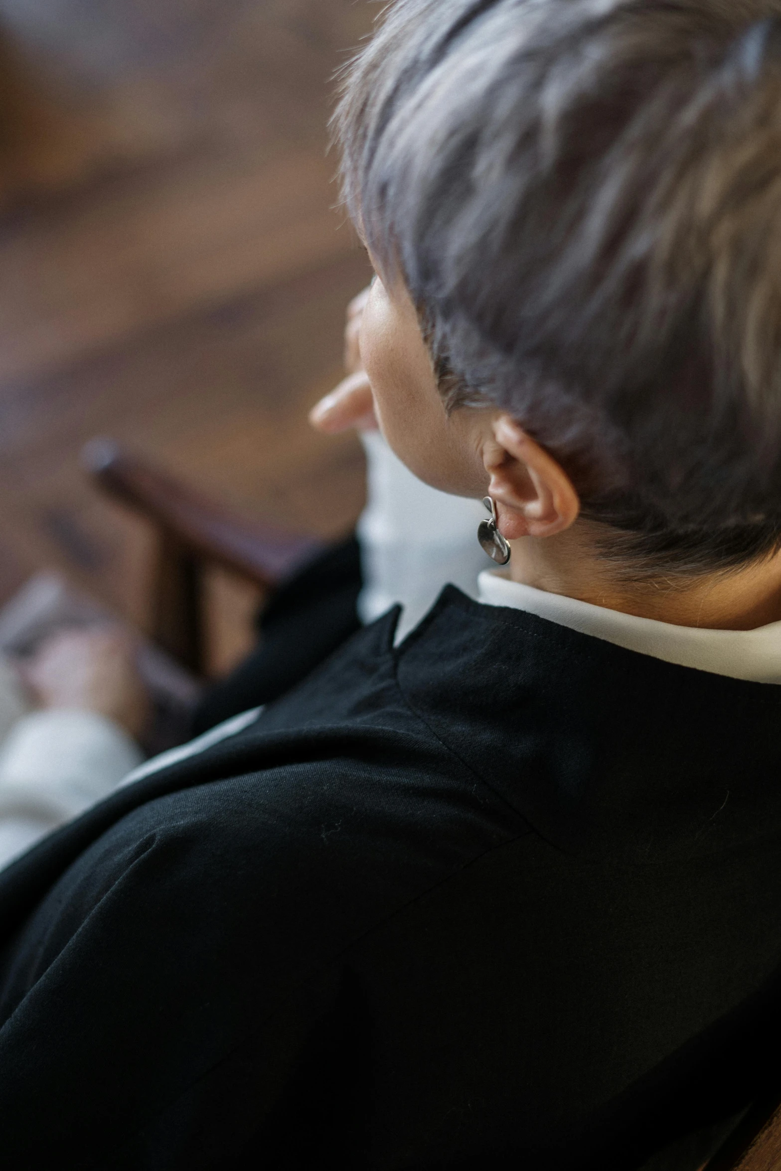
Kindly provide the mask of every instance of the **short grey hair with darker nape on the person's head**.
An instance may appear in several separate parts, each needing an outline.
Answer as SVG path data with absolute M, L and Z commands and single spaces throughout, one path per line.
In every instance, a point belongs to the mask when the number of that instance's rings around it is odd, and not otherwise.
M 781 0 L 397 0 L 335 124 L 450 406 L 639 576 L 781 547 Z

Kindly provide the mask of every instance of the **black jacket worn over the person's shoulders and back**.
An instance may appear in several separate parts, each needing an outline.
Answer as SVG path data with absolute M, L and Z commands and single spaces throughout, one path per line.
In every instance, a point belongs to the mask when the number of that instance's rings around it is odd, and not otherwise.
M 752 1100 L 781 690 L 452 587 L 392 630 L 0 881 L 9 1166 L 693 1167 Z

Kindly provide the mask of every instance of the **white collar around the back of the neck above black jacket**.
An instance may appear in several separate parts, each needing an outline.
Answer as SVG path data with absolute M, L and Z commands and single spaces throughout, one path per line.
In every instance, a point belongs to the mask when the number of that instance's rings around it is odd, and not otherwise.
M 638 618 L 560 594 L 521 586 L 486 569 L 478 578 L 479 601 L 536 614 L 582 635 L 603 638 L 652 658 L 753 683 L 781 683 L 781 622 L 755 630 L 701 630 Z

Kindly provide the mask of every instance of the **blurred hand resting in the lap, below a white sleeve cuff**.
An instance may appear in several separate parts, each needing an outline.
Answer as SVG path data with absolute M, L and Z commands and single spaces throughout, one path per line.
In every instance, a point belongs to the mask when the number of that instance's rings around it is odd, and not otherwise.
M 21 671 L 41 707 L 97 712 L 137 738 L 150 700 L 135 658 L 133 641 L 123 630 L 64 630 L 46 639 Z

